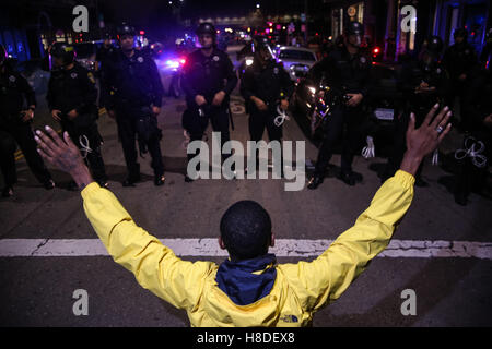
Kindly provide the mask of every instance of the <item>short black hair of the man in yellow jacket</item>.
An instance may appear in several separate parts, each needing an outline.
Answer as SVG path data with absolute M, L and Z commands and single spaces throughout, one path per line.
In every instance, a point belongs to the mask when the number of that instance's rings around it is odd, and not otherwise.
M 250 260 L 268 253 L 271 219 L 257 202 L 239 201 L 221 219 L 221 238 L 232 260 Z

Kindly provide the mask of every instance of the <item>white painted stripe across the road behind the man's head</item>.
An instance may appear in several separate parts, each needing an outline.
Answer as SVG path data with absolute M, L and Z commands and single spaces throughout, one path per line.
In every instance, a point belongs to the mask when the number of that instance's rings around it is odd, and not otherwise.
M 227 256 L 216 239 L 161 239 L 179 256 Z M 279 257 L 313 257 L 332 240 L 276 239 L 270 249 Z M 106 256 L 98 239 L 1 239 L 0 257 Z M 462 257 L 492 260 L 492 242 L 393 240 L 378 257 L 433 258 Z

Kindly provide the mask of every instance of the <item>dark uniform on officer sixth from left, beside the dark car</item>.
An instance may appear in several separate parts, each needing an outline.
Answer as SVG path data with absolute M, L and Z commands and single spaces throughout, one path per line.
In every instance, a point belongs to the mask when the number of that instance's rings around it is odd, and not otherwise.
M 331 51 L 309 73 L 315 81 L 319 81 L 324 74 L 327 77 L 330 91 L 335 94 L 360 93 L 364 96 L 355 107 L 348 107 L 343 103 L 333 107 L 325 124 L 325 134 L 319 147 L 315 176 L 324 177 L 333 146 L 341 137 L 344 128 L 347 128 L 348 134 L 343 137 L 342 144 L 341 173 L 342 177 L 352 173 L 353 157 L 362 137 L 361 125 L 364 119 L 362 106 L 371 89 L 371 57 L 365 51 L 360 49 L 355 55 L 351 55 L 342 46 Z

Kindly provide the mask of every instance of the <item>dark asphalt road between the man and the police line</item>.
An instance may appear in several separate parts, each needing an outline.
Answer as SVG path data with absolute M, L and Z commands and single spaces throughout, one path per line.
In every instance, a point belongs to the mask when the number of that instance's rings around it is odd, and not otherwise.
M 165 77 L 164 77 L 165 79 Z M 242 98 L 232 97 L 235 130 L 231 137 L 246 144 L 247 116 Z M 116 124 L 105 113 L 98 121 L 110 190 L 138 225 L 160 239 L 215 238 L 225 209 L 239 200 L 255 200 L 270 213 L 277 239 L 337 238 L 368 206 L 380 185 L 370 169 L 384 159 L 356 157 L 364 176 L 356 186 L 330 177 L 316 191 L 288 192 L 284 180 L 198 180 L 184 182 L 186 154 L 180 116 L 183 98 L 165 98 L 159 116 L 166 183 L 153 185 L 150 158 L 140 159 L 143 182 L 122 188 L 125 160 Z M 49 121 L 39 109 L 36 127 Z M 209 140 L 211 130 L 208 130 Z M 266 135 L 265 135 L 266 137 Z M 459 142 L 454 134 L 447 142 Z M 286 121 L 284 140 L 305 140 L 295 121 Z M 306 158 L 316 159 L 306 142 Z M 335 155 L 331 164 L 339 166 Z M 80 194 L 63 189 L 67 174 L 52 170 L 57 188 L 45 191 L 23 159 L 15 196 L 0 200 L 0 243 L 7 239 L 96 239 L 82 209 Z M 426 166 L 429 188 L 417 188 L 413 204 L 395 233 L 411 241 L 467 241 L 492 245 L 492 202 L 472 194 L 457 206 L 443 184 L 448 173 Z M 445 182 L 445 181 L 444 181 Z M 0 183 L 1 184 L 1 183 Z M 489 250 L 488 250 L 489 251 Z M 183 256 L 212 260 L 224 256 Z M 279 257 L 280 263 L 311 257 Z M 376 257 L 333 304 L 317 313 L 314 326 L 491 326 L 492 256 Z M 89 294 L 89 315 L 75 316 L 73 292 Z M 403 315 L 403 290 L 414 290 L 415 315 Z M 185 312 L 142 289 L 133 276 L 108 256 L 0 256 L 0 326 L 189 326 Z

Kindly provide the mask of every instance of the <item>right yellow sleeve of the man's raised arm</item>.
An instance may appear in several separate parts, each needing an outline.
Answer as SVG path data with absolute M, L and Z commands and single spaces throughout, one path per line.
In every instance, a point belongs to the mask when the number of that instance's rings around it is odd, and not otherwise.
M 337 300 L 386 249 L 413 197 L 413 176 L 401 170 L 377 191 L 355 225 L 339 236 L 315 261 L 281 264 L 279 268 L 306 311 Z

